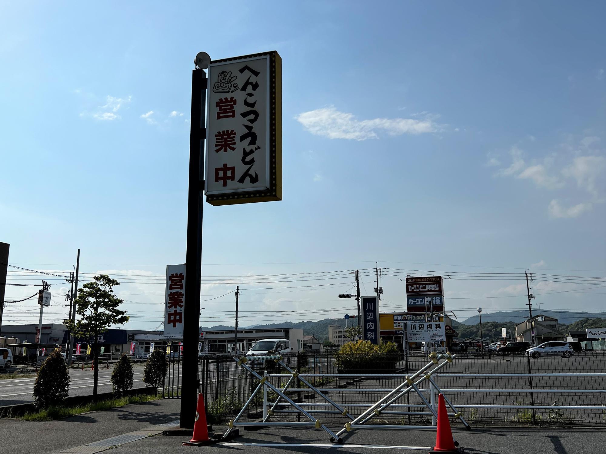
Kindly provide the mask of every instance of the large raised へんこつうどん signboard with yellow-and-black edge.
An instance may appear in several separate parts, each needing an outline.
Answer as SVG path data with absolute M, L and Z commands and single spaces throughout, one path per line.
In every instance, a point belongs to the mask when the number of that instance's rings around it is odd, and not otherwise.
M 206 201 L 282 200 L 282 59 L 271 51 L 208 66 Z

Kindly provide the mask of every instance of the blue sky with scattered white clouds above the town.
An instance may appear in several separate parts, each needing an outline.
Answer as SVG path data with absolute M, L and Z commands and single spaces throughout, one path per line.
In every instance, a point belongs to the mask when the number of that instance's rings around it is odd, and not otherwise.
M 90 273 L 161 276 L 184 262 L 193 58 L 277 50 L 284 200 L 206 204 L 204 275 L 379 260 L 445 275 L 606 276 L 604 4 L 260 3 L 0 5 L 0 241 L 10 263 L 71 271 L 78 248 Z M 215 298 L 237 281 L 202 292 Z M 370 294 L 373 279 L 362 281 Z M 336 298 L 350 281 L 284 286 L 248 286 L 250 324 L 352 312 L 352 300 Z M 386 310 L 404 304 L 397 277 L 381 286 Z M 544 308 L 604 308 L 604 288 L 587 287 L 533 283 Z M 445 289 L 459 320 L 479 304 L 525 303 L 519 275 Z M 122 285 L 133 326 L 161 323 L 163 291 Z M 12 286 L 6 299 L 28 292 Z M 53 299 L 47 321 L 65 311 Z M 201 323 L 220 323 L 231 301 L 205 303 Z M 15 303 L 5 320 L 37 321 L 35 308 Z

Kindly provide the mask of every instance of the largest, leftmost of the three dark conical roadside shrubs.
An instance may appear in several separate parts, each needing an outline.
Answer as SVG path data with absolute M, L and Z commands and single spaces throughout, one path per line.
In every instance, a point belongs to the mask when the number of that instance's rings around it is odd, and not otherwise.
M 36 374 L 34 399 L 38 407 L 60 404 L 70 392 L 70 375 L 60 349 L 55 349 Z

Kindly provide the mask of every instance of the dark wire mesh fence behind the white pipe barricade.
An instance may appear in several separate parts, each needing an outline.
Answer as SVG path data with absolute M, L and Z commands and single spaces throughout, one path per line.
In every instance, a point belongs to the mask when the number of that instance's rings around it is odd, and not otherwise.
M 286 358 L 290 367 L 302 373 L 414 373 L 427 363 L 426 355 L 383 355 L 344 358 L 335 352 L 300 352 Z M 169 363 L 166 396 L 179 396 L 181 358 Z M 288 373 L 275 363 L 255 364 L 263 375 Z M 210 421 L 235 416 L 258 385 L 258 380 L 242 372 L 231 358 L 204 357 L 198 363 L 199 392 L 204 394 Z M 279 388 L 286 378 L 271 377 Z M 337 378 L 313 377 L 313 386 L 325 390 L 330 398 L 348 406 L 352 414 L 378 401 L 389 390 L 402 383 L 402 377 Z M 593 351 L 571 358 L 525 355 L 457 354 L 456 360 L 436 374 L 441 387 L 470 423 L 474 424 L 606 424 L 606 352 Z M 293 386 L 291 398 L 305 404 L 305 409 L 324 410 L 315 393 L 301 383 Z M 356 392 L 365 389 L 364 392 Z M 324 392 L 324 391 L 323 391 Z M 429 395 L 430 387 L 424 387 Z M 269 399 L 273 397 L 271 392 Z M 248 407 L 250 419 L 262 416 L 262 396 Z M 422 402 L 413 395 L 398 404 L 411 412 L 421 409 Z M 418 406 L 418 407 L 416 407 Z M 544 408 L 541 408 L 544 407 Z M 550 408 L 547 408 L 550 407 Z M 564 408 L 563 408 L 564 407 Z M 573 407 L 573 408 L 565 408 Z M 286 409 L 286 407 L 284 407 Z M 422 412 L 419 412 L 422 413 Z M 284 414 L 287 418 L 288 415 Z M 293 413 L 293 417 L 295 416 Z M 331 416 L 333 418 L 333 416 Z M 344 422 L 334 416 L 335 423 Z M 430 424 L 431 418 L 419 415 L 382 415 L 382 420 L 402 424 Z

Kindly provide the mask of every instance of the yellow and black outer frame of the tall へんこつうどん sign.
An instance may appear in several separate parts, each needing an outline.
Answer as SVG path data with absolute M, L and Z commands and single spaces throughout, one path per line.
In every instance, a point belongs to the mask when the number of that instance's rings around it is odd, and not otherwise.
M 247 58 L 270 58 L 270 189 L 231 192 L 206 196 L 210 205 L 237 205 L 239 203 L 273 202 L 282 200 L 282 58 L 278 51 L 243 55 L 235 58 L 214 60 L 211 63 L 230 62 Z M 208 177 L 208 176 L 207 176 Z

